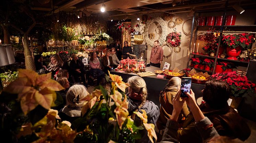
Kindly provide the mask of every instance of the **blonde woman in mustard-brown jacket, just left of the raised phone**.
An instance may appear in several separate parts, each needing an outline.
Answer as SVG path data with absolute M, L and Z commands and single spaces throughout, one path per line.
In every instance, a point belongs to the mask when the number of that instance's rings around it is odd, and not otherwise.
M 173 77 L 169 83 L 164 87 L 164 90 L 160 92 L 159 102 L 160 107 L 160 116 L 156 122 L 157 128 L 159 130 L 165 129 L 167 120 L 170 119 L 173 112 L 173 103 L 172 100 L 177 94 L 177 91 L 181 88 L 181 78 Z M 184 102 L 181 114 L 179 114 L 178 123 L 182 121 L 182 115 L 187 116 L 189 114 L 187 104 Z

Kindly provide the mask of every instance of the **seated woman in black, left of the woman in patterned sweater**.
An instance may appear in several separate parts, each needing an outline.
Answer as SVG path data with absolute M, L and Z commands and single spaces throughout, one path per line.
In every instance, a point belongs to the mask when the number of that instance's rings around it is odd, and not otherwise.
M 81 80 L 79 78 L 81 77 L 83 84 L 87 86 L 83 62 L 80 59 L 78 59 L 77 55 L 75 54 L 72 54 L 71 58 L 72 60 L 70 61 L 69 67 L 72 76 L 74 76 L 75 82 L 81 83 Z

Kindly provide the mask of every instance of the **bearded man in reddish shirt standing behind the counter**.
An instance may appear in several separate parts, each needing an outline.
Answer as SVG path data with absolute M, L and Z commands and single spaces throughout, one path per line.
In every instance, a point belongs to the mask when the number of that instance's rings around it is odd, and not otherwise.
M 150 65 L 160 68 L 161 63 L 163 61 L 163 55 L 164 50 L 162 49 L 162 47 L 159 46 L 159 41 L 155 40 L 154 47 L 152 48 L 150 54 Z

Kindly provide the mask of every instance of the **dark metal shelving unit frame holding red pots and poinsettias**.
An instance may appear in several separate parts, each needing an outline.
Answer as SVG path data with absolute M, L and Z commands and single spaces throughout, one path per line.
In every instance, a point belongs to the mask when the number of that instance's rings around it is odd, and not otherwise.
M 242 67 L 247 67 L 248 66 L 248 63 L 249 63 L 248 61 L 230 60 L 230 59 L 218 57 L 219 48 L 220 48 L 220 44 L 221 44 L 221 40 L 222 40 L 222 33 L 223 34 L 225 34 L 225 33 L 227 33 L 227 34 L 228 33 L 256 33 L 256 25 L 255 25 L 256 23 L 254 23 L 254 25 L 232 25 L 232 26 L 224 25 L 225 24 L 225 19 L 226 19 L 226 14 L 227 14 L 227 12 L 230 12 L 230 11 L 235 11 L 235 10 L 232 9 L 232 8 L 228 8 L 228 1 L 226 1 L 224 10 L 223 9 L 219 9 L 219 10 L 214 9 L 214 10 L 208 10 L 208 11 L 196 11 L 195 12 L 193 20 L 192 20 L 191 33 L 193 33 L 195 27 L 196 27 L 196 30 L 193 34 L 191 34 L 191 37 L 190 37 L 189 56 L 188 56 L 188 63 L 187 63 L 188 68 L 191 68 L 191 69 L 194 68 L 194 67 L 189 66 L 190 65 L 189 64 L 189 58 L 192 57 L 192 56 L 193 57 L 206 57 L 206 58 L 214 59 L 213 70 L 212 71 L 207 71 L 207 72 L 210 72 L 212 74 L 214 74 L 217 61 L 235 62 L 236 65 L 242 66 Z M 222 20 L 221 26 L 216 26 L 216 25 L 214 25 L 214 26 L 197 26 L 197 25 L 195 25 L 195 24 L 198 24 L 198 22 L 195 22 L 195 20 L 201 14 L 206 14 L 207 13 L 209 16 L 211 16 L 211 13 L 216 13 L 216 12 L 223 13 L 222 14 L 223 20 Z M 236 15 L 239 15 L 239 13 L 237 13 Z M 216 31 L 218 31 L 218 33 L 220 33 L 220 36 L 219 36 L 219 39 L 218 39 L 218 42 L 219 42 L 218 43 L 218 48 L 217 48 L 217 51 L 215 53 L 216 56 L 215 57 L 210 57 L 210 56 L 207 56 L 207 55 L 198 55 L 198 54 L 191 53 L 191 50 L 193 49 L 193 46 L 194 46 L 193 43 L 196 43 L 198 32 L 199 33 L 209 32 L 209 31 L 207 31 L 209 29 L 215 29 Z M 216 32 L 210 32 L 210 33 L 216 33 Z M 202 69 L 198 69 L 198 68 L 195 68 L 195 69 L 199 70 L 199 71 L 206 71 L 206 70 L 202 70 Z

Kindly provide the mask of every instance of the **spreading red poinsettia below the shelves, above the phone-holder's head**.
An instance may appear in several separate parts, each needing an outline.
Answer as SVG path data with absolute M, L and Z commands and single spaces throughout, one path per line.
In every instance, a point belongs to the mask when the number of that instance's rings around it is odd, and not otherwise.
M 236 71 L 227 73 L 216 73 L 211 76 L 216 80 L 222 80 L 229 84 L 231 93 L 234 97 L 245 97 L 248 92 L 255 95 L 256 86 L 249 81 L 246 76 L 237 75 Z

